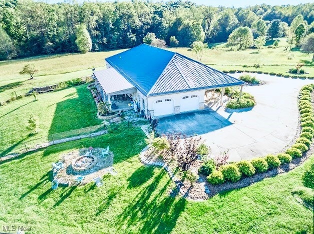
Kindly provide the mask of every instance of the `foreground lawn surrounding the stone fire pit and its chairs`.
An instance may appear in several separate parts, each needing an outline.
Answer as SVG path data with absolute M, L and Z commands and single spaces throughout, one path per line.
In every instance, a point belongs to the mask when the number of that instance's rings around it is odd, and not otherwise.
M 122 140 L 130 139 L 130 140 Z M 104 185 L 51 189 L 51 163 L 80 147 L 110 145 L 117 176 Z M 53 145 L 0 164 L 0 226 L 28 233 L 295 233 L 312 232 L 312 211 L 292 196 L 304 166 L 202 201 L 169 196 L 161 168 L 143 166 L 139 127 Z M 305 233 L 305 232 L 303 232 Z

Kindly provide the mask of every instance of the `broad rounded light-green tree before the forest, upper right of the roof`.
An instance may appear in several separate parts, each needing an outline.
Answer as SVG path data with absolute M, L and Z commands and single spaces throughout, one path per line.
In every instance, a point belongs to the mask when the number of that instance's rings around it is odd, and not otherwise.
M 249 27 L 238 27 L 228 37 L 228 42 L 238 45 L 239 49 L 247 48 L 253 44 L 253 33 Z

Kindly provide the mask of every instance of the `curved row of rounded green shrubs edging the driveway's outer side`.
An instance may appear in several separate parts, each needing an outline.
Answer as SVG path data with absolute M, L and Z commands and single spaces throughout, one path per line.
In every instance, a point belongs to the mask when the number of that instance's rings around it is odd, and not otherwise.
M 221 165 L 217 170 L 210 171 L 211 173 L 207 176 L 208 182 L 211 184 L 221 184 L 225 181 L 236 182 L 241 177 L 265 172 L 281 164 L 289 163 L 292 158 L 301 157 L 302 153 L 308 150 L 314 135 L 314 115 L 310 94 L 313 87 L 314 85 L 310 84 L 301 88 L 298 103 L 301 116 L 301 134 L 290 148 L 284 153 L 278 153 L 277 155 L 268 154 L 265 157 L 258 157 L 250 161 L 242 160 L 236 163 Z M 210 165 L 208 164 L 208 166 Z

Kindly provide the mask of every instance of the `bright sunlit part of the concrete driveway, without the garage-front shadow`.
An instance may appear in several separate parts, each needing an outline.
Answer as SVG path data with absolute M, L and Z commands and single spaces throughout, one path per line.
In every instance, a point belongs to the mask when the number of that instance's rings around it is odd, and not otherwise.
M 241 74 L 231 75 L 239 77 Z M 202 134 L 211 146 L 213 156 L 229 150 L 229 161 L 252 159 L 276 153 L 293 140 L 298 126 L 298 92 L 303 85 L 313 81 L 254 75 L 266 84 L 243 87 L 243 91 L 255 97 L 256 105 L 251 110 L 227 112 L 222 107 L 213 107 L 232 123 Z

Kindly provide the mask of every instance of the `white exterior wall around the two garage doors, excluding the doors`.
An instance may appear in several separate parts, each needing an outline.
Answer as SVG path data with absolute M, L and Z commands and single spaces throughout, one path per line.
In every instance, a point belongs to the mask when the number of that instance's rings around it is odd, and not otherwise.
M 148 110 L 154 110 L 154 104 L 156 103 L 156 100 L 160 99 L 167 99 L 171 98 L 173 100 L 173 107 L 174 107 L 174 113 L 180 113 L 180 102 L 183 96 L 191 96 L 191 95 L 197 95 L 199 99 L 199 109 L 204 108 L 204 95 L 205 90 L 195 90 L 195 91 L 189 91 L 189 92 L 179 92 L 179 93 L 171 93 L 166 95 L 159 95 L 159 96 L 150 96 L 147 97 L 148 102 Z

